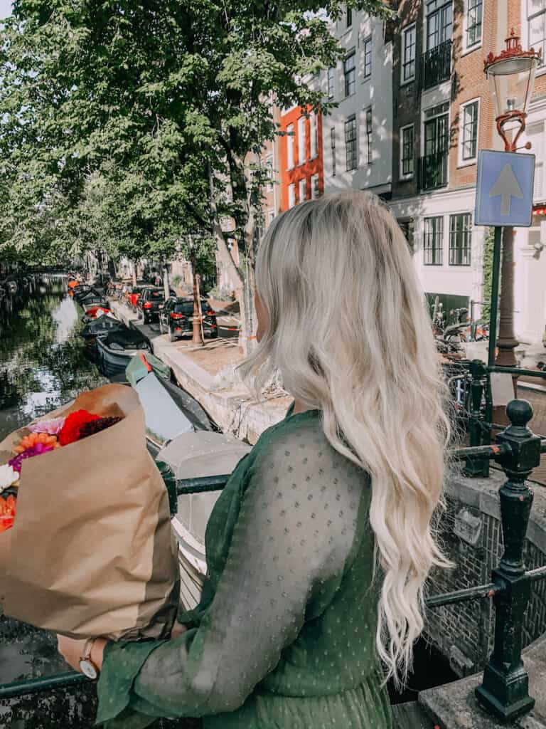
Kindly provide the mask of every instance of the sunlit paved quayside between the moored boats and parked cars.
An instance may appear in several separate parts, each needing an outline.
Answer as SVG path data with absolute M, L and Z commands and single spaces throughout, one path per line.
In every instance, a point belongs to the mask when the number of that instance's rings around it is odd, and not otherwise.
M 276 395 L 258 404 L 233 374 L 234 365 L 242 361 L 237 332 L 229 338 L 205 339 L 205 346 L 195 347 L 189 338 L 171 343 L 167 335 L 159 334 L 157 324 L 140 324 L 127 306 L 111 301 L 111 309 L 127 326 L 149 338 L 155 356 L 173 370 L 178 384 L 197 399 L 224 433 L 254 445 L 265 429 L 284 418 L 293 397 Z

